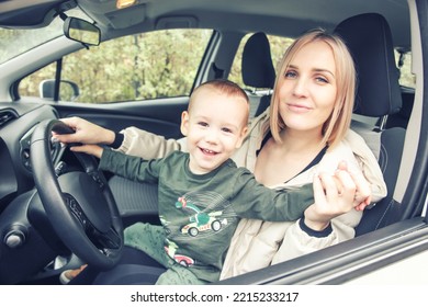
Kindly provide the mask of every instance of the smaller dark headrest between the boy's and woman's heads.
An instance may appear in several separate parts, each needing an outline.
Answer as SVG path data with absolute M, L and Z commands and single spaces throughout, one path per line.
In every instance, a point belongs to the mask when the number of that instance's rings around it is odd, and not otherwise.
M 264 33 L 255 33 L 248 38 L 243 52 L 241 73 L 243 81 L 248 87 L 273 88 L 275 70 Z

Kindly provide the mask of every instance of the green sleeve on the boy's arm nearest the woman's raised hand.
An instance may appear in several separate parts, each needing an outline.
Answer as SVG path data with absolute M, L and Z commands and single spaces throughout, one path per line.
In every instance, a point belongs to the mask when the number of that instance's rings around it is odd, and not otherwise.
M 291 221 L 303 216 L 314 203 L 312 183 L 283 190 L 271 190 L 258 183 L 251 173 L 240 175 L 235 184 L 235 212 L 245 218 Z

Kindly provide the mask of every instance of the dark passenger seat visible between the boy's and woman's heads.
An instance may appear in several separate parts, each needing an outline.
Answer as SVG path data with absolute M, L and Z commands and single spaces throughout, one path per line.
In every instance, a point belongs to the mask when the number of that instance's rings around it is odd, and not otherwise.
M 250 100 L 250 116 L 260 115 L 270 104 L 275 70 L 272 62 L 268 36 L 262 32 L 252 34 L 243 50 L 241 75 Z M 263 92 L 257 89 L 264 89 Z

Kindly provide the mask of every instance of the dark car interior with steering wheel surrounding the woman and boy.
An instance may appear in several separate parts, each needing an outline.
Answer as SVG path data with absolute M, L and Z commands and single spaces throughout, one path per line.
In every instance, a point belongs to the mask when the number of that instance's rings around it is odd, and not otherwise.
M 247 36 L 239 78 L 250 99 L 251 117 L 267 110 L 274 87 L 277 64 L 270 35 L 293 38 L 314 27 L 340 35 L 358 76 L 351 128 L 378 158 L 387 195 L 364 211 L 354 239 L 218 284 L 346 283 L 390 265 L 403 254 L 428 249 L 428 148 L 424 137 L 428 133 L 424 121 L 428 116 L 424 91 L 428 69 L 421 55 L 428 35 L 421 30 L 425 25 L 418 24 L 428 20 L 425 1 L 372 0 L 360 8 L 351 0 L 324 4 L 273 0 L 270 5 L 251 0 L 243 8 L 241 1 L 230 0 L 147 0 L 124 9 L 117 9 L 115 0 L 10 2 L 0 3 L 0 30 L 44 27 L 54 19 L 63 24 L 80 8 L 100 29 L 100 46 L 146 32 L 213 30 L 192 89 L 205 80 L 229 78 L 235 55 Z M 63 101 L 58 82 L 63 57 L 95 48 L 78 41 L 60 35 L 34 47 L 32 54 L 8 61 L 0 57 L 0 284 L 58 284 L 60 272 L 88 260 L 102 269 L 112 268 L 120 258 L 124 227 L 138 220 L 159 223 L 156 185 L 102 173 L 95 159 L 74 155 L 67 147 L 52 144 L 49 136 L 52 130 L 64 129 L 57 120 L 79 116 L 115 132 L 135 126 L 179 139 L 180 115 L 190 92 L 115 103 Z M 414 88 L 399 81 L 406 55 L 413 59 Z M 41 86 L 46 92 L 21 95 L 20 82 L 49 64 L 56 64 L 57 79 Z M 85 67 L 76 69 L 85 75 Z M 75 183 L 76 178 L 88 174 L 93 181 Z M 83 204 L 75 205 L 80 197 L 72 193 L 75 189 L 90 194 L 81 196 Z M 79 230 L 82 224 L 89 225 L 86 230 Z

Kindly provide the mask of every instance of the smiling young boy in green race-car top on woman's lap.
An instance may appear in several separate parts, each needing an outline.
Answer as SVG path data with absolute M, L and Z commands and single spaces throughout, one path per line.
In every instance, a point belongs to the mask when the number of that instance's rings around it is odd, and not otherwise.
M 188 152 L 145 161 L 94 145 L 79 147 L 101 158 L 102 170 L 158 183 L 162 226 L 137 223 L 125 229 L 125 245 L 168 269 L 157 284 L 218 281 L 240 218 L 296 220 L 314 203 L 312 184 L 270 190 L 233 162 L 230 156 L 247 133 L 248 114 L 247 94 L 230 81 L 214 80 L 195 89 L 182 113 Z

